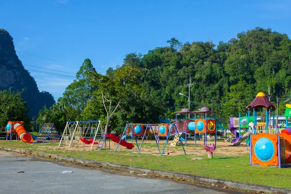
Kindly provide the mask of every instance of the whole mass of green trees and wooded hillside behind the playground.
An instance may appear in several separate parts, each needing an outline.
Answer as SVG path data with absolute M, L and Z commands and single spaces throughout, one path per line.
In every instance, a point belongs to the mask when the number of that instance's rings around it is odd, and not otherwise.
M 127 54 L 124 64 L 109 68 L 105 76 L 86 59 L 84 64 L 90 65 L 81 66 L 77 80 L 50 109 L 56 115 L 48 115 L 50 122 L 60 121 L 64 126 L 66 120 L 100 119 L 103 126 L 115 130 L 127 122 L 159 122 L 164 116 L 173 119 L 175 111 L 188 108 L 187 97 L 179 93 L 188 95 L 185 84 L 190 74 L 194 83 L 191 109 L 213 106 L 224 123 L 229 122 L 229 116 L 246 113 L 245 107 L 258 92 L 268 93 L 269 85 L 274 103 L 276 97 L 288 98 L 291 92 L 291 40 L 286 34 L 256 28 L 217 46 L 212 42 L 182 44 L 175 38 L 167 43 L 169 47 L 145 55 Z M 129 67 L 136 70 L 124 74 L 122 69 Z M 84 77 L 91 80 L 85 81 L 90 86 L 81 81 Z M 126 85 L 130 80 L 134 84 Z M 279 114 L 285 109 L 282 101 Z M 110 105 L 110 111 L 116 110 L 112 115 L 108 113 Z

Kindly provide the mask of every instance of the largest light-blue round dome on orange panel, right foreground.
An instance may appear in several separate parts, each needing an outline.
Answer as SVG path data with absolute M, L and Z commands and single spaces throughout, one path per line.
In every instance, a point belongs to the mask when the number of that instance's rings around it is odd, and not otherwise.
M 256 142 L 254 150 L 257 158 L 264 162 L 271 160 L 275 154 L 275 147 L 272 141 L 265 137 Z

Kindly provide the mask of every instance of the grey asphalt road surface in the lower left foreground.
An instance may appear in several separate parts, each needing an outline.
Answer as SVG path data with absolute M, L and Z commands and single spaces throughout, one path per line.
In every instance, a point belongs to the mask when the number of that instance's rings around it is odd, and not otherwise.
M 74 165 L 74 166 L 72 166 Z M 24 171 L 24 173 L 17 173 Z M 62 173 L 73 171 L 73 173 Z M 194 190 L 193 190 L 194 189 Z M 126 176 L 0 151 L 1 194 L 234 194 L 171 180 Z

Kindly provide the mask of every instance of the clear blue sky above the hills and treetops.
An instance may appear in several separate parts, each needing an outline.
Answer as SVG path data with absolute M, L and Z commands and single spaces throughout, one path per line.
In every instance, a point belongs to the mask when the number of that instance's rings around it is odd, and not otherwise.
M 0 7 L 0 28 L 14 38 L 23 64 L 71 73 L 89 58 L 105 74 L 126 54 L 146 54 L 172 37 L 218 44 L 255 27 L 291 35 L 290 0 L 0 0 Z M 31 75 L 55 99 L 73 81 Z

